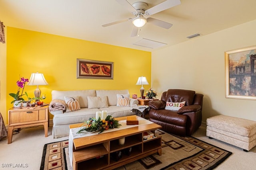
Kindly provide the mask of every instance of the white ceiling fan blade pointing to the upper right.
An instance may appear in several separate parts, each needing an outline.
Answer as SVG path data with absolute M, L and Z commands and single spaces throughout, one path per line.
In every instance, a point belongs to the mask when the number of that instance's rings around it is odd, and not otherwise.
M 174 6 L 177 6 L 180 4 L 180 0 L 166 0 L 162 2 L 161 4 L 158 4 L 156 6 L 153 6 L 152 8 L 145 11 L 146 15 L 153 15 L 158 12 L 161 12 L 163 10 L 166 10 L 168 8 L 172 8 Z

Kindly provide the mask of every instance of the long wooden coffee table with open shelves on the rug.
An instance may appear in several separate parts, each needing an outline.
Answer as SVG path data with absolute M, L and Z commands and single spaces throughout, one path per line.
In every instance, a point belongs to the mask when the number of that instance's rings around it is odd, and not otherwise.
M 124 120 L 126 117 L 117 117 L 116 120 Z M 70 128 L 80 127 L 81 124 L 70 125 Z M 114 169 L 124 164 L 144 158 L 145 156 L 158 153 L 162 154 L 161 137 L 157 134 L 155 138 L 144 141 L 143 132 L 160 129 L 156 123 L 140 125 L 128 129 L 120 129 L 108 133 L 101 133 L 73 140 L 73 169 L 94 170 Z M 118 139 L 125 137 L 125 144 L 120 146 Z M 128 156 L 122 154 L 118 161 L 113 160 L 110 155 L 132 147 Z

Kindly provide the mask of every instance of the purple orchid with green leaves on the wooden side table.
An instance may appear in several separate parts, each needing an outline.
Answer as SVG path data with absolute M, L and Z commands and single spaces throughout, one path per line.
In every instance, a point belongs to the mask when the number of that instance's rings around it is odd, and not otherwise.
M 20 78 L 20 80 L 18 80 L 18 81 L 16 82 L 16 84 L 17 84 L 17 86 L 18 86 L 17 93 L 10 93 L 10 94 L 9 94 L 11 97 L 14 98 L 14 100 L 11 102 L 11 104 L 14 103 L 14 102 L 16 102 L 16 101 L 19 101 L 19 102 L 17 102 L 17 103 L 15 104 L 16 106 L 18 106 L 18 104 L 20 104 L 20 103 L 24 100 L 24 99 L 22 98 L 22 96 L 26 94 L 26 92 L 24 92 L 25 94 L 23 94 L 23 91 L 24 91 L 26 82 L 28 82 L 28 78 L 24 78 L 24 77 Z M 20 91 L 21 91 L 21 94 L 20 94 Z M 27 94 L 26 94 L 26 95 L 27 95 Z

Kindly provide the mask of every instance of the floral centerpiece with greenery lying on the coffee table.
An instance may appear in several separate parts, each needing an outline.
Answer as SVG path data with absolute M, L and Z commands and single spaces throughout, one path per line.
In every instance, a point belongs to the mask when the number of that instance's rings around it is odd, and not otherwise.
M 108 130 L 109 128 L 118 128 L 119 126 L 121 126 L 121 124 L 118 123 L 118 120 L 115 120 L 114 117 L 108 115 L 105 120 L 101 120 L 100 117 L 98 120 L 90 118 L 84 122 L 84 125 L 77 133 L 81 133 L 82 131 L 89 133 L 100 131 L 100 133 L 102 133 L 104 130 Z

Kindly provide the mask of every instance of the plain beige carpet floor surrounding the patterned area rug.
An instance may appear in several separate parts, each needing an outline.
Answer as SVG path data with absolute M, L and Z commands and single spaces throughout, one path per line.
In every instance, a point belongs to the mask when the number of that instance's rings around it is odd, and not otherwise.
M 20 133 L 13 135 L 12 143 L 7 144 L 7 139 L 0 140 L 0 169 L 20 170 L 21 168 L 8 168 L 5 164 L 28 164 L 26 170 L 39 170 L 42 160 L 42 151 L 46 143 L 68 140 L 68 137 L 54 139 L 52 125 L 49 127 L 48 137 L 44 137 L 44 126 L 22 128 Z M 214 170 L 253 170 L 256 167 L 256 147 L 249 152 L 243 149 L 218 141 L 206 136 L 206 127 L 200 127 L 193 135 L 197 139 L 217 147 L 231 151 L 233 154 Z M 3 167 L 2 167 L 3 165 Z

